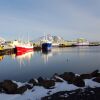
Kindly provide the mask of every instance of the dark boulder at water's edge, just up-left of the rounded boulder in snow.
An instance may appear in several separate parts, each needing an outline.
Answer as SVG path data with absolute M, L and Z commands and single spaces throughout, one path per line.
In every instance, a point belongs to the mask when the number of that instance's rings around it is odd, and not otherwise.
M 65 72 L 64 74 L 60 75 L 60 77 L 68 82 L 71 82 L 72 79 L 75 78 L 75 74 L 72 72 Z

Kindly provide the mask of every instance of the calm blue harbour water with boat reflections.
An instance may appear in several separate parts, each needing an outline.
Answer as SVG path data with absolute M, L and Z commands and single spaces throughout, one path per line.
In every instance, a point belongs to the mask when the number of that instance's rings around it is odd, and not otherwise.
M 0 81 L 25 82 L 39 76 L 51 77 L 54 73 L 100 70 L 100 46 L 53 48 L 51 52 L 5 55 L 0 59 Z

